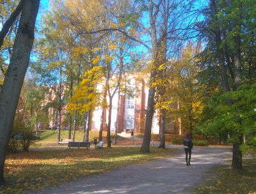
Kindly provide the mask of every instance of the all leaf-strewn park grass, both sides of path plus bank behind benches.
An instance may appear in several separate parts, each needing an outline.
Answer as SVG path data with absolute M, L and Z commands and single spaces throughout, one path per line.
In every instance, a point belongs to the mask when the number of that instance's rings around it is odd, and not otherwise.
M 89 140 L 97 136 L 98 132 L 90 131 Z M 67 144 L 56 146 L 57 136 L 54 130 L 47 130 L 40 134 L 40 137 L 42 139 L 31 146 L 31 151 L 7 154 L 4 167 L 7 184 L 0 187 L 0 193 L 38 191 L 45 186 L 57 186 L 77 177 L 101 174 L 123 166 L 169 157 L 175 151 L 150 147 L 150 153 L 141 153 L 141 141 L 132 142 L 131 138 L 122 137 L 118 137 L 116 146 L 112 147 L 95 149 L 91 146 L 90 149 L 84 147 L 68 149 Z M 111 140 L 113 137 L 112 134 Z M 68 138 L 68 131 L 61 131 L 61 138 Z M 173 138 L 171 135 L 167 135 L 166 142 L 171 138 Z M 76 141 L 82 140 L 83 132 L 77 131 Z M 103 133 L 103 140 L 106 141 L 106 132 Z M 212 177 L 203 184 L 196 185 L 191 193 L 255 194 L 255 158 L 244 157 L 243 167 L 243 171 L 232 170 L 227 165 L 214 167 L 210 170 Z

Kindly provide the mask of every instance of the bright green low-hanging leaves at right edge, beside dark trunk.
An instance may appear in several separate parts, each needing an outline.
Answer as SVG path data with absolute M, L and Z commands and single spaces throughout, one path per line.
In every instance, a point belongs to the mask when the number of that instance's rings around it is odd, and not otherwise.
M 205 117 L 197 125 L 197 130 L 213 136 L 230 133 L 231 138 L 228 139 L 228 143 L 240 141 L 237 136 L 233 136 L 234 134 L 246 136 L 255 134 L 255 87 L 255 84 L 244 82 L 237 91 L 212 95 L 204 110 Z M 225 104 L 227 98 L 234 102 L 232 106 Z M 237 118 L 241 122 L 237 122 Z M 245 151 L 246 147 L 243 149 Z

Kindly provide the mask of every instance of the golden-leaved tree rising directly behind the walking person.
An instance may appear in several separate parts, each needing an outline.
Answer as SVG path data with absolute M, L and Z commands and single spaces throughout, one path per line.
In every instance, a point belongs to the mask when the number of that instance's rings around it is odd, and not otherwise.
M 200 93 L 204 92 L 198 84 L 198 73 L 200 68 L 197 66 L 198 60 L 196 54 L 200 50 L 196 50 L 193 43 L 188 43 L 182 49 L 180 58 L 170 64 L 170 74 L 172 81 L 170 82 L 170 90 L 173 91 L 170 96 L 171 107 L 170 114 L 178 124 L 181 133 L 189 133 L 191 137 L 195 134 L 195 125 L 198 123 L 198 117 L 202 112 L 202 104 L 200 103 Z

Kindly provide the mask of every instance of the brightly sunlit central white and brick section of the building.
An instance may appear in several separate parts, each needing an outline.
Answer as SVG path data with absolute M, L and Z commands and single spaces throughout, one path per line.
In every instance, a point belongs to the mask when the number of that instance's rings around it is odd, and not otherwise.
M 113 97 L 113 108 L 111 114 L 111 131 L 117 130 L 117 133 L 134 131 L 134 133 L 144 133 L 145 115 L 147 109 L 148 87 L 147 77 L 141 75 L 126 75 L 127 84 L 133 91 L 132 96 L 125 93 L 118 92 Z M 119 96 L 119 99 L 118 99 Z M 109 98 L 107 97 L 107 101 Z M 107 130 L 108 124 L 108 110 L 105 109 L 104 127 Z M 102 110 L 98 109 L 93 112 L 92 130 L 100 129 Z M 159 126 L 157 126 L 157 115 L 154 116 L 152 130 L 154 133 L 159 133 Z

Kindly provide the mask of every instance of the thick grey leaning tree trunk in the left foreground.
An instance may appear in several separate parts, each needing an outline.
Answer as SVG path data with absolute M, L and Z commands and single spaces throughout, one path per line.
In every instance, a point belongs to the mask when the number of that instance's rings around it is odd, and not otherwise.
M 40 0 L 25 0 L 10 64 L 0 93 L 0 184 L 4 183 L 4 161 L 15 110 L 33 47 L 36 15 Z

